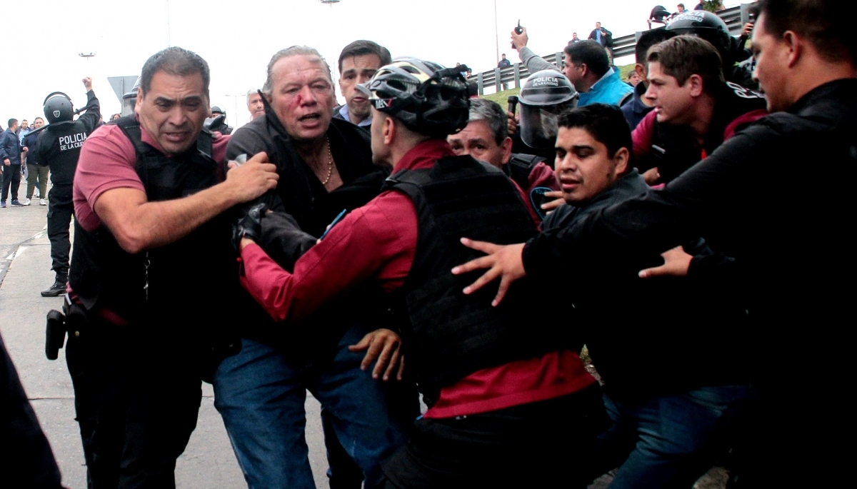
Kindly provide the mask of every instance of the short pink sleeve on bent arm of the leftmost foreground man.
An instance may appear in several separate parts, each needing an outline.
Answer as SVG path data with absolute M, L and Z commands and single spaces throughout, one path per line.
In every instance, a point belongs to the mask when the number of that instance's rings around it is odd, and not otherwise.
M 118 126 L 102 126 L 81 147 L 75 170 L 75 215 L 84 229 L 100 224 L 95 201 L 113 188 L 135 188 L 145 192 L 135 170 L 136 155 L 131 141 Z

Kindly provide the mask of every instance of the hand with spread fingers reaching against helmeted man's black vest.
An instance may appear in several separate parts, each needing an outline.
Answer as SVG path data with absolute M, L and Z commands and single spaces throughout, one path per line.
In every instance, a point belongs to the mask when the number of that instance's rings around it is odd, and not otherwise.
M 506 292 L 509 291 L 512 282 L 523 278 L 527 274 L 524 271 L 524 260 L 521 258 L 521 253 L 524 251 L 524 243 L 497 245 L 461 238 L 461 244 L 476 251 L 487 253 L 488 256 L 471 259 L 464 265 L 456 266 L 452 269 L 452 275 L 461 275 L 469 271 L 487 268 L 488 271 L 483 273 L 482 277 L 477 278 L 476 282 L 464 287 L 464 294 L 472 294 L 476 290 L 482 289 L 487 283 L 500 277 L 500 288 L 497 290 L 497 295 L 494 295 L 494 301 L 491 301 L 492 306 L 499 306 L 500 301 L 503 300 Z

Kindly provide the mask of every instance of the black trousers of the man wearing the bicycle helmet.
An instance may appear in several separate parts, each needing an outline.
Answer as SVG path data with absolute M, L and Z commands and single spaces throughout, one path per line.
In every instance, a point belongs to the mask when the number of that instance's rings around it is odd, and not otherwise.
M 590 453 L 609 426 L 600 387 L 539 403 L 414 423 L 381 464 L 384 489 L 584 488 Z

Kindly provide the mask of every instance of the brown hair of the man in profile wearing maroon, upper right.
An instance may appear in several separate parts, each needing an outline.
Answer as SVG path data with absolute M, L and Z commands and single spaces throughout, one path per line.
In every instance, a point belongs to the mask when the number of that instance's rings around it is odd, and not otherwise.
M 663 73 L 674 77 L 679 85 L 684 85 L 691 75 L 702 78 L 707 93 L 716 93 L 726 84 L 720 53 L 710 42 L 696 36 L 675 36 L 653 45 L 646 61 L 661 63 Z

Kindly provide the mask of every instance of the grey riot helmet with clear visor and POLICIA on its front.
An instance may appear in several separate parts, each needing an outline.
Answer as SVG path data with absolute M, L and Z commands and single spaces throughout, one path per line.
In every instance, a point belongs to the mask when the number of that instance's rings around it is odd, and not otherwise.
M 558 131 L 557 117 L 578 105 L 578 91 L 566 75 L 544 69 L 530 75 L 518 94 L 521 140 L 536 149 L 552 149 Z

